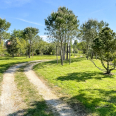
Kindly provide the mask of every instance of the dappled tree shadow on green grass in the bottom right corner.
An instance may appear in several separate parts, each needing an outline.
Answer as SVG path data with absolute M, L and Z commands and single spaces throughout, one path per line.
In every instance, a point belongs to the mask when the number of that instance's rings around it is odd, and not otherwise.
M 87 92 L 90 94 L 88 95 Z M 95 92 L 99 92 L 100 96 Z M 109 99 L 107 98 L 109 97 Z M 69 102 L 80 101 L 88 114 L 97 113 L 98 116 L 116 116 L 116 91 L 103 89 L 82 89 L 79 95 L 72 97 Z

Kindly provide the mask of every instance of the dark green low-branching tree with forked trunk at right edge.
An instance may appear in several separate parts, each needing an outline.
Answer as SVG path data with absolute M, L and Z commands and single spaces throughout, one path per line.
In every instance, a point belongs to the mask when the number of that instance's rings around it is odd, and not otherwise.
M 97 53 L 106 74 L 110 74 L 116 65 L 116 36 L 113 30 L 109 27 L 103 28 L 99 37 L 93 41 L 92 50 Z

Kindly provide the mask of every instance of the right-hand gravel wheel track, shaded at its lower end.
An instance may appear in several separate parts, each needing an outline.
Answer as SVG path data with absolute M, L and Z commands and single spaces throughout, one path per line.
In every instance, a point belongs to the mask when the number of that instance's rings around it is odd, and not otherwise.
M 37 63 L 30 64 L 24 71 L 29 81 L 33 83 L 40 95 L 43 96 L 44 100 L 53 109 L 53 112 L 58 112 L 59 116 L 77 116 L 73 109 L 71 109 L 66 103 L 63 103 L 56 95 L 54 95 L 51 90 L 37 77 L 37 75 L 32 71 L 32 67 Z

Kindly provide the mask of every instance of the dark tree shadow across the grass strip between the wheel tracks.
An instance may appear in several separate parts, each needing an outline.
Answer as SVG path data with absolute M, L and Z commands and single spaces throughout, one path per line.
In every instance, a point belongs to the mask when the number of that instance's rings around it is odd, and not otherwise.
M 34 101 L 30 103 L 30 108 L 18 110 L 7 116 L 53 116 L 53 114 L 46 107 L 45 101 Z

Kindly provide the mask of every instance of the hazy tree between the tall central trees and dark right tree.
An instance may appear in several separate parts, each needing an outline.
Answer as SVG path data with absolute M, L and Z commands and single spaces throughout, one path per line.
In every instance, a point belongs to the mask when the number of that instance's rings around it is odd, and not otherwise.
M 109 24 L 106 22 L 98 22 L 97 20 L 93 19 L 90 19 L 81 25 L 82 40 L 86 42 L 87 59 L 93 40 L 98 36 L 99 32 L 108 25 Z

